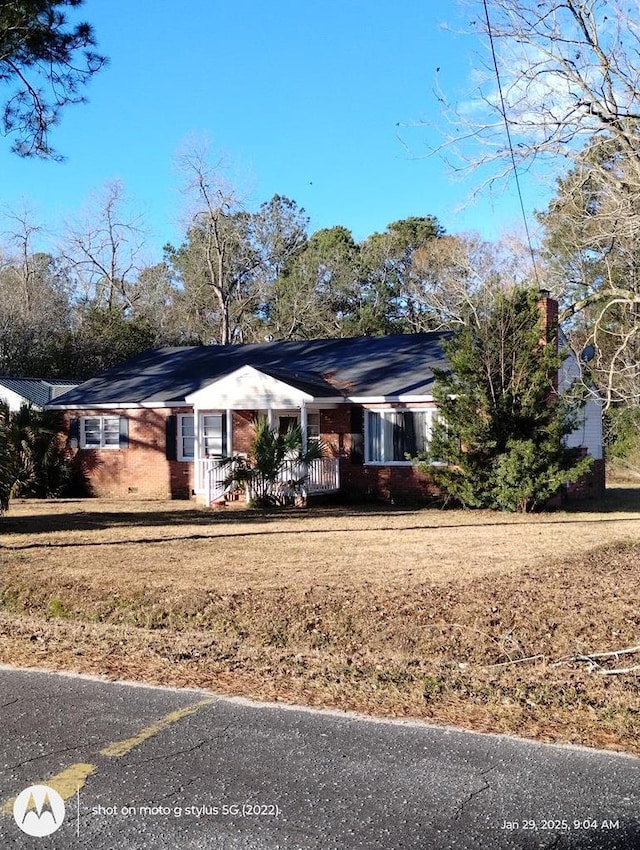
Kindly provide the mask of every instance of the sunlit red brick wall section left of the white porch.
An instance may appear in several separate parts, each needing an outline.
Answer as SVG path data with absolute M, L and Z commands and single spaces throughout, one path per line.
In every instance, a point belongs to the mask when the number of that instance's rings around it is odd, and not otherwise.
M 125 416 L 128 447 L 81 449 L 75 452 L 93 495 L 118 499 L 188 499 L 193 488 L 193 463 L 168 460 L 167 417 L 189 413 L 186 408 L 144 410 L 82 410 L 68 413 L 70 422 L 83 416 Z

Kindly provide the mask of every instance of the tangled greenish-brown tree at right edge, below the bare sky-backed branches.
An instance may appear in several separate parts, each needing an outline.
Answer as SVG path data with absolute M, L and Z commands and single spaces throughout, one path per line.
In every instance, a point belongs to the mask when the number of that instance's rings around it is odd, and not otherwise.
M 595 140 L 540 216 L 546 278 L 607 408 L 640 405 L 640 193 L 627 159 L 612 139 Z

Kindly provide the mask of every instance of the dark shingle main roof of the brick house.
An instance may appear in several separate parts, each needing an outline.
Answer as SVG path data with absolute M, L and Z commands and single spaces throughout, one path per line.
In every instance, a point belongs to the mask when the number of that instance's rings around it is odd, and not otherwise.
M 446 369 L 450 332 L 314 339 L 146 351 L 56 399 L 56 405 L 176 404 L 249 365 L 314 397 L 430 395 L 433 368 Z

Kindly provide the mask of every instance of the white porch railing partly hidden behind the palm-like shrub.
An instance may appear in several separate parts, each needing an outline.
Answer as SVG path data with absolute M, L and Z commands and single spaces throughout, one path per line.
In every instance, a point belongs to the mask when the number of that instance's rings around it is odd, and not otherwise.
M 233 471 L 233 466 L 224 467 L 216 458 L 201 458 L 200 481 L 204 483 L 207 504 L 221 501 L 233 487 L 225 486 L 225 480 Z M 292 481 L 300 481 L 306 476 L 303 489 L 307 494 L 333 493 L 340 489 L 340 469 L 337 457 L 323 457 L 306 466 L 297 461 L 287 461 L 278 476 L 283 489 Z

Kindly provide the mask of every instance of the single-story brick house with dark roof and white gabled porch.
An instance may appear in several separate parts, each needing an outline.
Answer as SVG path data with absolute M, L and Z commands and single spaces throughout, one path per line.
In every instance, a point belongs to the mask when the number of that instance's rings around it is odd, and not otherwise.
M 100 496 L 196 496 L 211 504 L 222 492 L 219 459 L 248 451 L 259 415 L 282 431 L 297 422 L 305 442 L 328 444 L 330 456 L 309 470 L 311 497 L 425 496 L 432 482 L 406 456 L 429 442 L 433 370 L 447 368 L 442 343 L 449 337 L 437 331 L 154 349 L 50 406 L 66 411 L 70 444 L 90 461 Z M 585 410 L 569 443 L 596 459 L 584 487 L 603 486 L 598 404 Z

